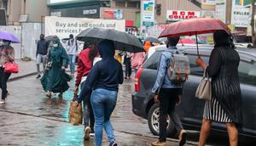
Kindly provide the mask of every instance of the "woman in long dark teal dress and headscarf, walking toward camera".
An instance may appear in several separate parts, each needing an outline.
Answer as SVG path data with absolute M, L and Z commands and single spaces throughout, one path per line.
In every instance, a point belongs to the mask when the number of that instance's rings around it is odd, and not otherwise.
M 62 98 L 62 93 L 69 88 L 67 81 L 71 80 L 71 76 L 67 75 L 65 69 L 68 65 L 68 55 L 61 46 L 60 39 L 55 36 L 53 39 L 53 47 L 49 49 L 47 54 L 48 63 L 41 83 L 47 97 L 51 98 L 51 93 L 60 93 L 58 96 Z

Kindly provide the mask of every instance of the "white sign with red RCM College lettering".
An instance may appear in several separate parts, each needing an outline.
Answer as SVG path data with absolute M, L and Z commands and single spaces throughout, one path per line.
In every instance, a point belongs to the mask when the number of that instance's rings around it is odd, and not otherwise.
M 201 16 L 200 11 L 167 10 L 166 20 L 178 21 L 189 20 Z

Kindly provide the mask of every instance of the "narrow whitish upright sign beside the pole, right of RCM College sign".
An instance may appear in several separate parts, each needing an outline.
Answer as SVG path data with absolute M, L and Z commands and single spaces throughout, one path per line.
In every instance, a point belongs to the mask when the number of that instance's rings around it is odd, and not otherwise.
M 215 18 L 226 23 L 226 3 L 224 1 L 216 1 Z

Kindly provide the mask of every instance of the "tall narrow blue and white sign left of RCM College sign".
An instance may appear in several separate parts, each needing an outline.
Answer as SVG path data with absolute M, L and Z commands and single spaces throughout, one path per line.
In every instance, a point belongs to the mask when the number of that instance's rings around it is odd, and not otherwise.
M 143 0 L 143 25 L 154 25 L 154 0 Z

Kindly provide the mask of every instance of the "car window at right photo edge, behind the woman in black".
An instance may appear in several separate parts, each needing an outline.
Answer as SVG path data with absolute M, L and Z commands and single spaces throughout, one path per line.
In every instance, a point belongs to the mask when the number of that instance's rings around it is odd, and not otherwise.
M 242 84 L 256 86 L 256 63 L 241 60 L 238 67 L 239 80 Z

